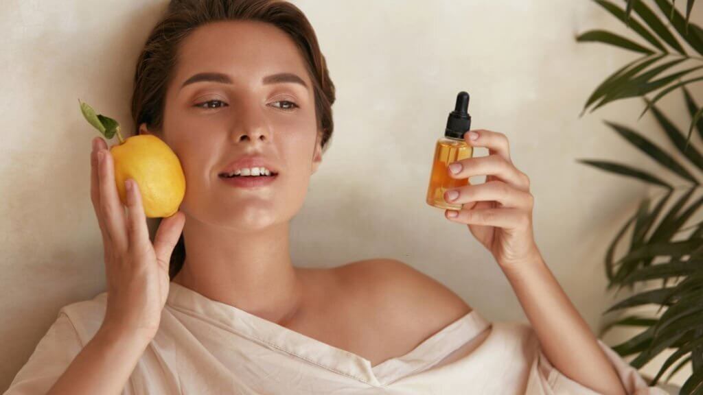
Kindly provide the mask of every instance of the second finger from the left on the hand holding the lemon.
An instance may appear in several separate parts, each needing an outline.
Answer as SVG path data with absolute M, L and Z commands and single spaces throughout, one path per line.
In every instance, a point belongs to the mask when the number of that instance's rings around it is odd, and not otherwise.
M 120 201 L 115 185 L 115 167 L 110 150 L 102 149 L 102 163 L 98 164 L 100 172 L 100 209 L 105 221 L 105 228 L 110 236 L 112 248 L 118 251 L 127 250 L 127 226 L 124 218 L 124 205 Z

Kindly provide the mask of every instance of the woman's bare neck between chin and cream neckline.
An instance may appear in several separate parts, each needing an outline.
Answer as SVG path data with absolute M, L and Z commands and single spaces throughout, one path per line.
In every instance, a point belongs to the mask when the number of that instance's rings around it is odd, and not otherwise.
M 275 323 L 288 320 L 302 299 L 290 260 L 288 225 L 223 232 L 188 218 L 183 227 L 186 260 L 173 282 Z

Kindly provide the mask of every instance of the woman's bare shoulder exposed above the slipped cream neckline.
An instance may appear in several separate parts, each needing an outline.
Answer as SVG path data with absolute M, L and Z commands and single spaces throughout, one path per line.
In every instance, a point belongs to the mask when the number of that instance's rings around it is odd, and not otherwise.
M 397 259 L 368 259 L 336 268 L 338 284 L 373 311 L 378 328 L 407 333 L 419 344 L 472 311 L 448 287 Z

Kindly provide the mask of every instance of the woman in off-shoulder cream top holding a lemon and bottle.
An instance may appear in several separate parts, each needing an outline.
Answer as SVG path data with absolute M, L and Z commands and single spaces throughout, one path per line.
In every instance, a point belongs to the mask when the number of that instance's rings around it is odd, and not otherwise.
M 125 213 L 96 138 L 91 197 L 108 291 L 61 309 L 7 394 L 659 391 L 591 334 L 553 278 L 531 232 L 529 180 L 503 134 L 465 134 L 490 155 L 456 162 L 451 176 L 487 179 L 447 191 L 464 206 L 445 214 L 491 251 L 531 326 L 488 323 L 394 259 L 293 266 L 289 223 L 328 146 L 334 101 L 295 6 L 172 1 L 138 61 L 132 113 L 140 134 L 179 156 L 181 210 L 152 244 L 138 186 L 128 181 Z M 233 186 L 253 167 L 275 175 Z

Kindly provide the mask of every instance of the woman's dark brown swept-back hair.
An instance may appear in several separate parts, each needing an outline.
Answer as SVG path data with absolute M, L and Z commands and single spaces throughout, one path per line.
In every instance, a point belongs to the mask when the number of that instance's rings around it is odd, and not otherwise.
M 153 28 L 138 58 L 134 75 L 131 115 L 135 131 L 146 123 L 162 136 L 164 105 L 169 82 L 174 77 L 179 44 L 196 28 L 226 20 L 254 20 L 283 30 L 299 48 L 315 98 L 315 117 L 321 147 L 325 152 L 334 129 L 332 105 L 335 85 L 330 79 L 325 57 L 310 22 L 297 6 L 282 0 L 172 0 L 165 15 Z M 171 279 L 181 271 L 186 259 L 183 233 L 169 262 Z

